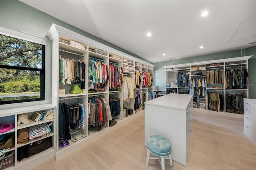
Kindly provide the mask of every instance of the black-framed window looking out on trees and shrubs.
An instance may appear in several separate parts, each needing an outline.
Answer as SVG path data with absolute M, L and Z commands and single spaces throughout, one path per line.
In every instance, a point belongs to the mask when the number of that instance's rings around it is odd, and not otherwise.
M 45 44 L 0 34 L 0 104 L 44 100 Z

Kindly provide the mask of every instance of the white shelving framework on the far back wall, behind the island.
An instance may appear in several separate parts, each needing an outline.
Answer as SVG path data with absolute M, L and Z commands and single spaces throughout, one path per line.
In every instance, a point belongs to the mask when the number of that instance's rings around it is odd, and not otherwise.
M 166 84 L 170 84 L 171 82 L 175 82 L 178 80 L 178 73 L 179 72 L 189 72 L 190 73 L 190 78 L 191 79 L 205 79 L 207 80 L 207 71 L 210 70 L 225 70 L 229 68 L 246 68 L 248 69 L 248 59 L 250 59 L 252 56 L 244 56 L 244 57 L 234 57 L 234 58 L 228 58 L 228 59 L 218 59 L 218 60 L 211 60 L 211 61 L 202 61 L 202 62 L 196 62 L 196 63 L 186 63 L 186 64 L 178 64 L 178 65 L 168 65 L 164 66 L 166 69 Z M 212 66 L 210 66 L 212 65 Z M 201 75 L 194 75 L 195 72 L 202 72 Z M 178 83 L 177 83 L 178 84 Z M 248 84 L 248 79 L 246 84 Z M 226 115 L 230 117 L 238 117 L 238 118 L 243 118 L 242 114 L 234 114 L 234 113 L 228 113 L 226 112 L 226 93 L 244 93 L 246 97 L 248 98 L 248 89 L 229 89 L 229 88 L 224 88 L 225 83 L 216 83 L 216 84 L 208 84 L 208 85 L 214 85 L 214 86 L 219 86 L 220 88 L 208 88 L 206 87 L 206 92 L 207 91 L 214 91 L 214 92 L 220 92 L 223 95 L 223 107 L 224 111 L 218 112 L 220 115 Z M 180 90 L 180 91 L 179 91 Z M 179 93 L 181 90 L 189 90 L 190 88 L 184 88 L 184 87 L 166 87 L 166 92 L 175 92 Z M 202 102 L 202 101 L 201 101 Z M 204 101 L 206 102 L 206 101 Z M 207 107 L 206 109 L 200 109 L 201 111 L 206 111 L 208 113 L 214 113 L 216 111 L 208 111 Z M 216 112 L 217 113 L 217 112 Z

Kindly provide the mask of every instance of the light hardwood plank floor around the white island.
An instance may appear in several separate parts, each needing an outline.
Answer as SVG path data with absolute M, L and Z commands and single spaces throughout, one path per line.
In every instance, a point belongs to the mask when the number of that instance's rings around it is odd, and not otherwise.
M 144 113 L 64 158 L 32 170 L 160 170 L 146 166 Z M 243 119 L 194 111 L 187 166 L 165 161 L 166 170 L 256 170 L 256 146 L 243 134 Z

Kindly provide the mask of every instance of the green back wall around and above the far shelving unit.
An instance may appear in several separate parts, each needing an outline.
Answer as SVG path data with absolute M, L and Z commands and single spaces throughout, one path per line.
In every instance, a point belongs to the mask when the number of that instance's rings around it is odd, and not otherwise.
M 242 49 L 242 56 L 254 55 L 249 59 L 249 98 L 256 99 L 256 46 Z M 234 51 L 226 51 L 221 53 L 213 53 L 208 55 L 200 55 L 195 57 L 188 57 L 182 59 L 174 59 L 169 61 L 162 61 L 153 63 L 153 76 L 154 76 L 154 85 L 157 86 L 158 89 L 164 90 L 166 87 L 166 75 L 164 66 L 167 65 L 176 65 L 176 64 L 184 64 L 184 63 L 193 63 L 199 61 L 208 61 L 215 59 L 225 59 L 232 57 L 241 56 L 241 50 Z

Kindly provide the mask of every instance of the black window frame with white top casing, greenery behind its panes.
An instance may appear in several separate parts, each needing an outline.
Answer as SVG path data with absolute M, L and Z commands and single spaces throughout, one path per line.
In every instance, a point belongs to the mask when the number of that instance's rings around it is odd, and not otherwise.
M 41 68 L 33 68 L 33 67 L 18 67 L 18 66 L 11 66 L 11 65 L 0 65 L 2 69 L 20 69 L 20 70 L 27 70 L 27 71 L 39 71 L 40 72 L 40 97 L 35 99 L 20 99 L 20 100 L 13 100 L 13 101 L 1 101 L 0 105 L 12 104 L 12 103 L 24 103 L 24 102 L 32 102 L 32 101 L 44 101 L 45 100 L 45 84 L 46 84 L 46 77 L 45 77 L 45 65 L 46 65 L 46 38 L 40 38 L 38 36 L 34 36 L 29 33 L 23 32 L 16 32 L 13 30 L 9 30 L 6 28 L 0 27 L 0 34 L 19 38 L 22 40 L 26 40 L 29 42 L 34 42 L 42 45 L 42 67 Z M 4 31 L 3 31 L 4 30 Z

